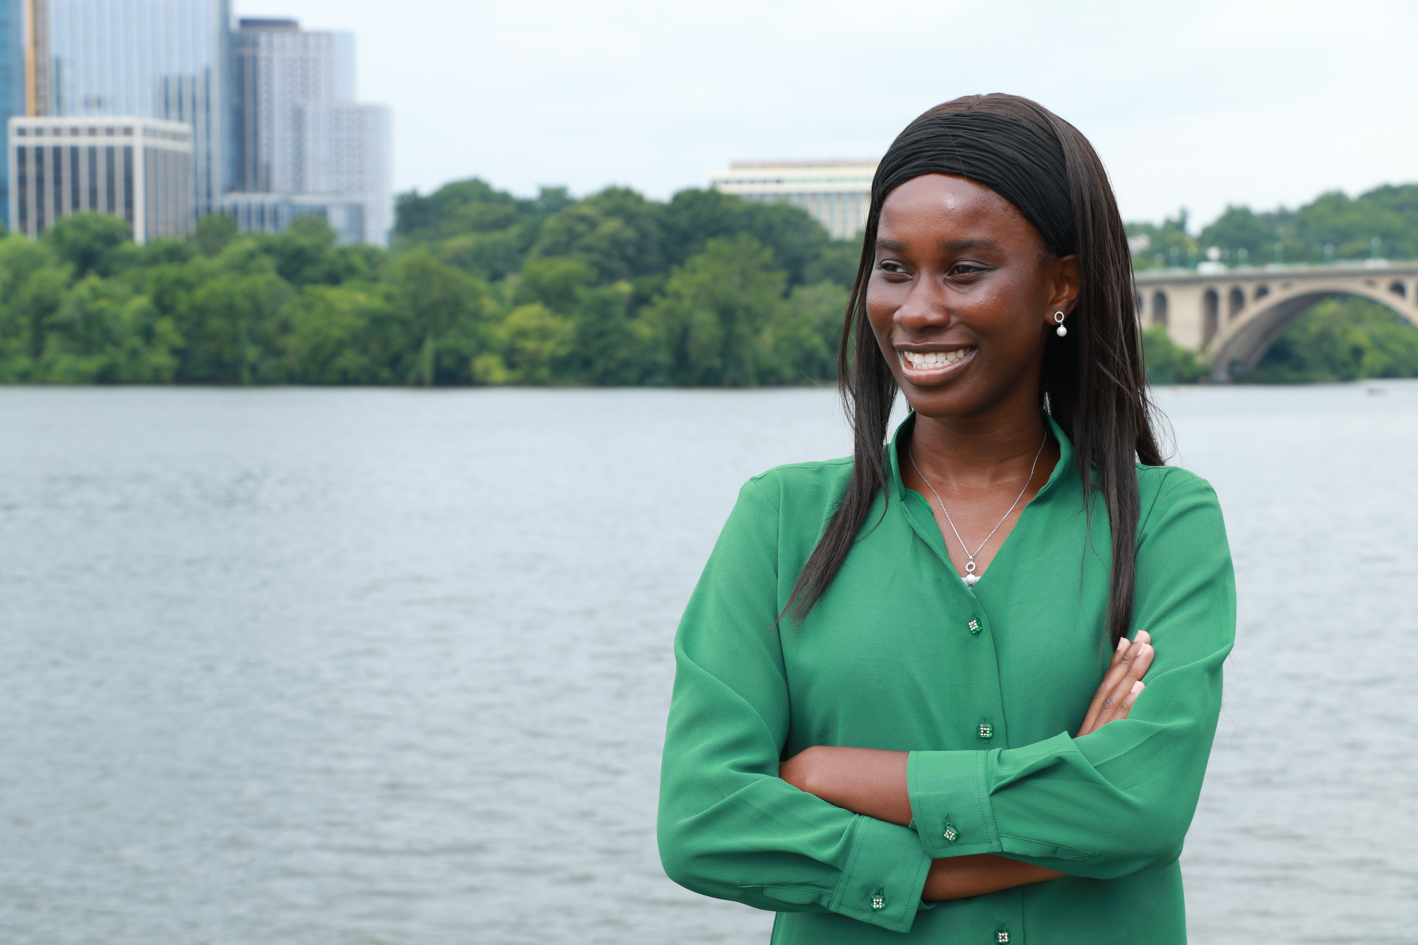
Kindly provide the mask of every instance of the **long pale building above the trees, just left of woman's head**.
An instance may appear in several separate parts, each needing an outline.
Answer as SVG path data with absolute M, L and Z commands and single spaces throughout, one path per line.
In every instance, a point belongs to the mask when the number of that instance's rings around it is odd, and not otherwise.
M 726 173 L 710 176 L 709 186 L 744 200 L 801 207 L 834 239 L 848 239 L 866 227 L 876 163 L 735 162 Z

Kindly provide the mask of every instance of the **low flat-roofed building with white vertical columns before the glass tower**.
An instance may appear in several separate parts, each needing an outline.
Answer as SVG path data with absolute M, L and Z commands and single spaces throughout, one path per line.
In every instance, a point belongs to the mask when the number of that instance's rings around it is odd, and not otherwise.
M 38 237 L 82 211 L 125 220 L 139 244 L 191 232 L 193 130 L 150 118 L 11 118 L 9 213 Z

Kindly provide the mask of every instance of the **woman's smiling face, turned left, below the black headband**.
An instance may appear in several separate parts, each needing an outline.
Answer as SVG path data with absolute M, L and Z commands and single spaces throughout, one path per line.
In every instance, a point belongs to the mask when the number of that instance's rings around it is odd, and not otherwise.
M 925 417 L 1038 402 L 1046 333 L 1076 295 L 1075 256 L 1051 256 L 1039 231 L 983 184 L 926 174 L 882 204 L 866 315 Z

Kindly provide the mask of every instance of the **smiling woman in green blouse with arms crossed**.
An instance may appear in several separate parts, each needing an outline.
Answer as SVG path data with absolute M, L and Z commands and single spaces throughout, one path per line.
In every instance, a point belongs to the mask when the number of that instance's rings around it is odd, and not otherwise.
M 774 942 L 1184 942 L 1235 589 L 1088 140 L 1008 95 L 912 122 L 841 370 L 854 456 L 750 480 L 679 626 L 665 870 Z

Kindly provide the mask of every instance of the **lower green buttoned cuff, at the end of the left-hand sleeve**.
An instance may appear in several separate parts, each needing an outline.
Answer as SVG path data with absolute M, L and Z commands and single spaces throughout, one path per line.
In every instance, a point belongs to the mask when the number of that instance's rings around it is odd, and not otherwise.
M 847 867 L 828 908 L 892 932 L 909 932 L 929 871 L 930 857 L 912 830 L 858 815 Z

